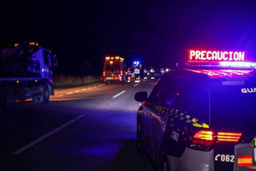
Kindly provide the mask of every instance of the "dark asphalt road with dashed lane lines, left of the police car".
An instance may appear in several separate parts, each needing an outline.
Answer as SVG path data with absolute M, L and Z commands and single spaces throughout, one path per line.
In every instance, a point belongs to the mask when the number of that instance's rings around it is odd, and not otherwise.
M 136 152 L 134 94 L 154 82 L 55 91 L 49 104 L 22 102 L 0 116 L 0 170 L 154 170 Z

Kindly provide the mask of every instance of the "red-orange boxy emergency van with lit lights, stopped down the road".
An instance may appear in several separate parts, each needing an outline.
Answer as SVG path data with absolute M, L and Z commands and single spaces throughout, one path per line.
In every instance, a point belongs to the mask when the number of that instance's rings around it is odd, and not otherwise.
M 116 57 L 105 57 L 103 79 L 104 82 L 122 82 L 126 81 L 126 66 L 123 58 Z

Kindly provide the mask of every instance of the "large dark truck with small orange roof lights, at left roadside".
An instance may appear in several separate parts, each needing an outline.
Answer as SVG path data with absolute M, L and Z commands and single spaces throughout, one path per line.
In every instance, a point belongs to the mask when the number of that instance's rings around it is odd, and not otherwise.
M 0 109 L 11 113 L 15 101 L 46 103 L 54 95 L 52 69 L 57 57 L 37 42 L 16 43 L 0 58 Z

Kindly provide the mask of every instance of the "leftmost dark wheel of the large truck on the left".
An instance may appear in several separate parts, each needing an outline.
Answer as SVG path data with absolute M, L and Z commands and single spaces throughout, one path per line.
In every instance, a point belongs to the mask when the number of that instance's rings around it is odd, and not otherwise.
M 2 113 L 4 114 L 11 114 L 14 112 L 14 105 L 15 105 L 15 97 L 13 92 L 8 91 L 4 96 L 4 101 L 2 104 Z

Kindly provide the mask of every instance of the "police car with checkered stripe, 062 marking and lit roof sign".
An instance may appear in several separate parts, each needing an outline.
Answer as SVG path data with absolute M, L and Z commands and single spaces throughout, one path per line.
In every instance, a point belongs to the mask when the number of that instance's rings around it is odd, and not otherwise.
M 159 170 L 256 169 L 255 66 L 244 52 L 190 51 L 149 96 L 136 93 L 138 150 Z

